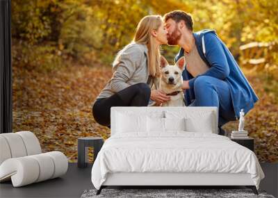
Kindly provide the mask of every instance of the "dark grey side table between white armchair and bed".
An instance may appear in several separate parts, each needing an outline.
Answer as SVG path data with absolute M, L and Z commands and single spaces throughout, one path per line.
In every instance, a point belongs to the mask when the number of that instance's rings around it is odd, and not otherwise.
M 94 148 L 94 159 L 97 158 L 97 154 L 99 153 L 102 145 L 104 145 L 104 139 L 100 137 L 86 137 L 86 138 L 78 138 L 77 142 L 78 147 L 78 167 L 87 167 L 88 164 L 88 147 Z

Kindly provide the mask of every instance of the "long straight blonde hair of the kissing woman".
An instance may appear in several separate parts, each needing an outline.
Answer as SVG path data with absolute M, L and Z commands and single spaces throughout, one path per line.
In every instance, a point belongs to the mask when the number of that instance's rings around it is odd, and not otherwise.
M 156 47 L 154 44 L 155 38 L 152 36 L 152 31 L 157 31 L 162 23 L 163 19 L 161 15 L 148 15 L 143 17 L 136 28 L 136 33 L 133 38 L 133 42 L 147 45 L 149 74 L 153 77 L 161 76 L 159 65 L 161 52 L 159 46 Z

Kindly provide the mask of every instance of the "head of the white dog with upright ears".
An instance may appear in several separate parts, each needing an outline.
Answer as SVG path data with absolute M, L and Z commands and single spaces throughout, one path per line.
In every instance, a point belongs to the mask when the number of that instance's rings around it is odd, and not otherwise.
M 161 80 L 168 85 L 181 83 L 181 73 L 186 65 L 186 58 L 182 56 L 175 65 L 169 65 L 167 60 L 161 56 Z

